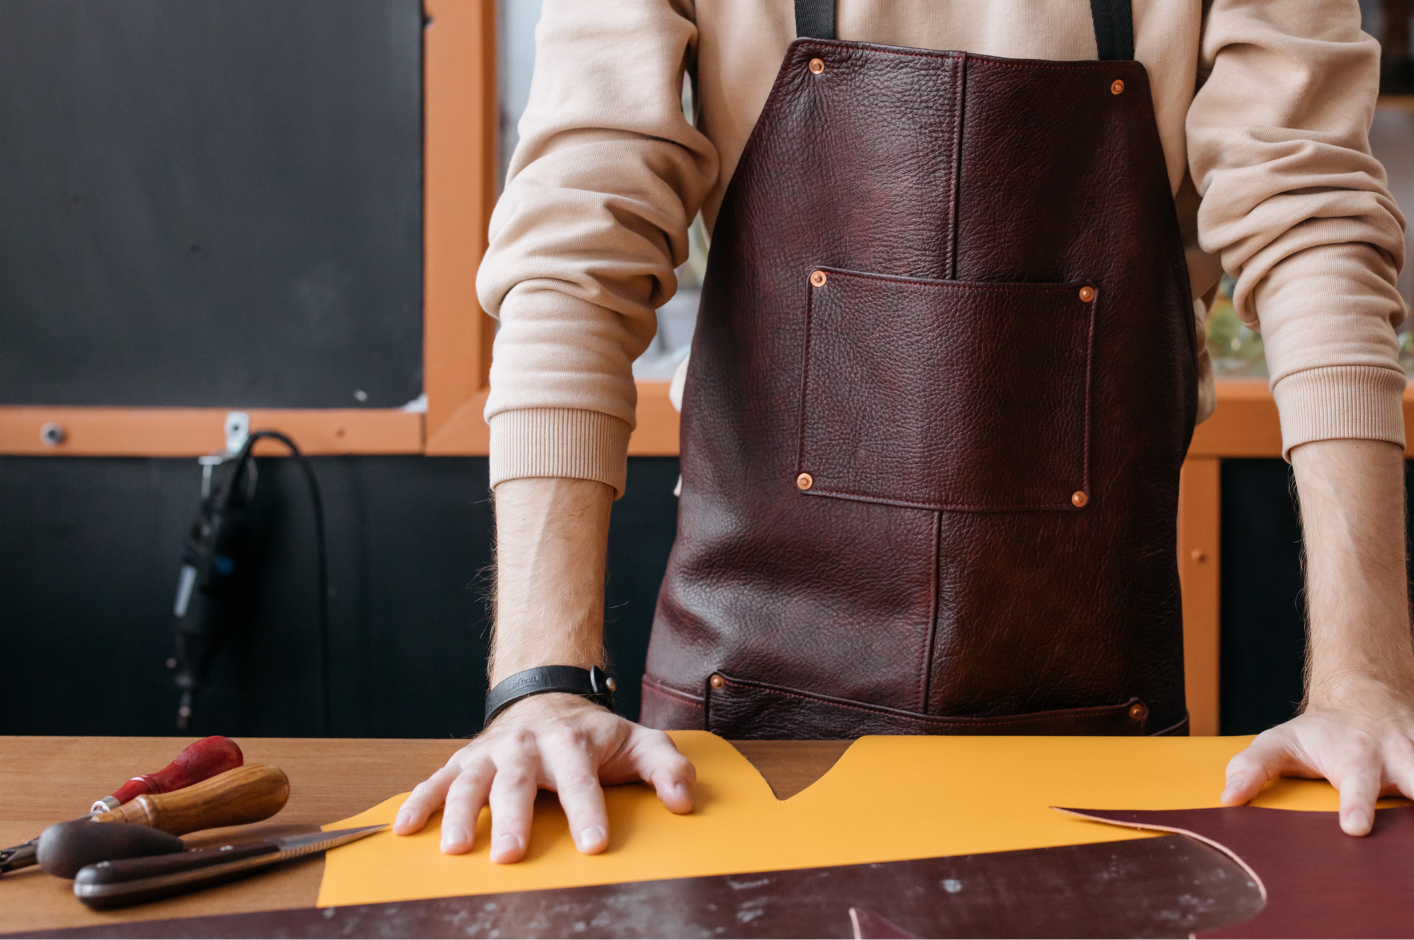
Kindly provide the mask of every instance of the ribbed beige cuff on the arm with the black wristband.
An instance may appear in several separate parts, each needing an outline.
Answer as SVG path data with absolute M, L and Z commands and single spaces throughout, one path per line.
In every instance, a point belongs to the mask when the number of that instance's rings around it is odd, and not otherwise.
M 602 411 L 516 409 L 491 417 L 491 486 L 525 476 L 597 479 L 624 495 L 631 428 Z

